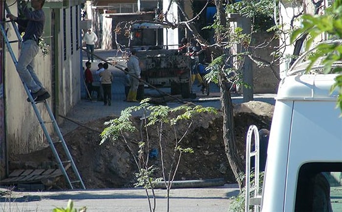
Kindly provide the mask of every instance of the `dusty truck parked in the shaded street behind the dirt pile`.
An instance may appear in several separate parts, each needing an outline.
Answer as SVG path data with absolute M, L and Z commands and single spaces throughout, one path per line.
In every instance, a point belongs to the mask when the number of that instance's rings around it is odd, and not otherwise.
M 142 22 L 133 25 L 131 48 L 136 49 L 141 77 L 154 87 L 168 87 L 171 95 L 191 97 L 191 58 L 178 55 L 177 45 L 164 45 L 163 29 L 167 26 Z

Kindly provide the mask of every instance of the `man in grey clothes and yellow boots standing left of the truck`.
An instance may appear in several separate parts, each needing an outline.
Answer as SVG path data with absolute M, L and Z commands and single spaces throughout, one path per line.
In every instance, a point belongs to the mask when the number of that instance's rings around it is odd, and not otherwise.
M 127 96 L 127 101 L 128 102 L 138 102 L 137 101 L 137 91 L 139 87 L 139 79 L 141 69 L 139 66 L 139 58 L 136 57 L 137 51 L 135 49 L 132 49 L 130 52 L 130 56 L 127 62 L 127 68 L 128 68 L 128 73 L 131 76 L 130 77 L 130 89 L 128 92 Z

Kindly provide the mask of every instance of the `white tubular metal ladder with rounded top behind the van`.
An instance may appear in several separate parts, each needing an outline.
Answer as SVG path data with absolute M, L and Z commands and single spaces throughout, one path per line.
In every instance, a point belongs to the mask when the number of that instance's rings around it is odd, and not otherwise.
M 254 151 L 251 152 L 252 135 L 254 133 Z M 261 202 L 261 196 L 259 194 L 259 155 L 260 155 L 260 143 L 259 132 L 255 125 L 251 125 L 247 132 L 246 138 L 246 196 L 245 196 L 245 212 L 249 212 L 249 206 L 254 205 L 254 212 L 259 211 L 259 205 Z M 255 157 L 254 167 L 254 185 L 251 186 L 251 158 Z M 251 196 L 251 192 L 254 192 L 254 197 Z

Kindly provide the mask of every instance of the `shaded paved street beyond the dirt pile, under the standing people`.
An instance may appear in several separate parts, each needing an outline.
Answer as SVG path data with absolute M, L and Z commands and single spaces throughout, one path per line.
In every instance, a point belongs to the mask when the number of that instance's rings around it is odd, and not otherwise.
M 120 57 L 116 56 L 116 51 L 102 51 L 102 50 L 95 50 L 96 54 L 100 56 L 100 58 L 106 59 L 108 62 L 110 62 L 113 59 Z M 84 55 L 84 58 L 86 56 Z M 87 60 L 83 60 L 83 63 L 85 64 Z M 101 60 L 94 61 L 92 63 L 92 70 L 96 70 L 97 64 L 99 62 L 103 62 Z M 125 63 L 119 62 L 121 66 L 126 66 Z M 72 118 L 76 121 L 79 121 L 81 123 L 86 123 L 88 121 L 96 120 L 100 117 L 106 117 L 106 116 L 120 116 L 120 113 L 123 109 L 137 105 L 138 103 L 134 102 L 126 102 L 125 99 L 125 88 L 124 88 L 124 77 L 125 74 L 121 70 L 109 65 L 109 70 L 112 71 L 114 75 L 114 81 L 112 84 L 112 104 L 111 106 L 104 106 L 103 102 L 96 101 L 88 101 L 85 99 L 86 91 L 85 88 L 82 88 L 82 99 L 81 101 L 67 114 L 67 117 Z M 165 93 L 170 93 L 170 88 L 163 88 L 161 91 Z M 219 88 L 216 84 L 211 83 L 210 84 L 210 95 L 206 96 L 203 95 L 200 91 L 200 87 L 197 87 L 197 80 L 195 81 L 194 85 L 192 86 L 192 92 L 196 94 L 196 98 L 194 99 L 184 99 L 185 101 L 192 101 L 195 104 L 200 104 L 204 107 L 215 107 L 217 109 L 221 108 L 221 103 L 219 101 Z M 154 89 L 145 89 L 145 96 L 158 96 L 160 95 L 156 90 Z M 275 94 L 255 94 L 254 100 L 256 101 L 264 101 L 270 104 L 275 104 Z M 241 95 L 233 95 L 232 101 L 233 103 L 242 103 L 243 102 L 243 96 Z M 168 102 L 167 105 L 170 107 L 176 107 L 183 103 L 179 102 Z M 142 116 L 139 112 L 134 113 L 133 115 L 136 116 Z M 79 125 L 72 123 L 70 121 L 65 121 L 63 124 L 60 125 L 61 131 L 63 134 L 66 134 L 75 128 L 79 127 Z

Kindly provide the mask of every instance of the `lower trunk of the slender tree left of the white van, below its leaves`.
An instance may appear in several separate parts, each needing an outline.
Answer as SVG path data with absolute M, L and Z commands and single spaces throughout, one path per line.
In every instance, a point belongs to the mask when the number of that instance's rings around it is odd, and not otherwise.
M 232 98 L 228 85 L 222 75 L 219 75 L 218 83 L 221 92 L 221 106 L 223 111 L 223 142 L 225 152 L 241 191 L 243 183 L 239 177 L 239 173 L 244 173 L 245 167 L 236 148 Z

